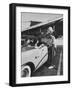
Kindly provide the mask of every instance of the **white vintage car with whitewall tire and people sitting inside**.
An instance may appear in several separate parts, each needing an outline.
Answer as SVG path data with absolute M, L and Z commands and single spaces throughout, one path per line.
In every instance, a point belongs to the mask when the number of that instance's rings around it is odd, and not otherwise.
M 23 40 L 22 40 L 23 41 Z M 48 60 L 47 46 L 38 40 L 24 39 L 21 47 L 21 77 L 30 77 Z

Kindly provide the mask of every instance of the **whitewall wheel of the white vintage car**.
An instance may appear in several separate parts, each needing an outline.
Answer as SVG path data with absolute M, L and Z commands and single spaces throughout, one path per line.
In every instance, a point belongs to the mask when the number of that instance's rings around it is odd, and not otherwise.
M 23 66 L 21 70 L 21 77 L 30 77 L 31 76 L 31 68 L 28 65 Z

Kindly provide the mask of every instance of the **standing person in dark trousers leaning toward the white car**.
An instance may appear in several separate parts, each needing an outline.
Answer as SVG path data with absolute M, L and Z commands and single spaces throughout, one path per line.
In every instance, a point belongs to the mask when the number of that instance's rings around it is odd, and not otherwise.
M 54 41 L 55 41 L 55 37 L 53 35 L 54 30 L 52 27 L 49 27 L 46 34 L 42 37 L 41 41 L 47 45 L 48 47 L 48 60 L 47 60 L 47 66 L 54 66 L 52 65 L 52 60 L 53 60 L 53 56 L 54 56 Z

